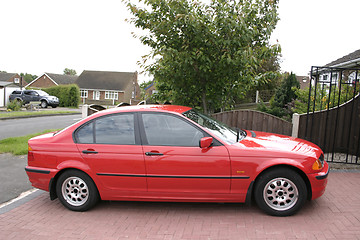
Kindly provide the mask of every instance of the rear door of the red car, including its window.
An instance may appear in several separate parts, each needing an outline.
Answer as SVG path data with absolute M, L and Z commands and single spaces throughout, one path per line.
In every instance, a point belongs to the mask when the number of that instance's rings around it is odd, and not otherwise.
M 75 132 L 81 156 L 108 189 L 146 191 L 144 156 L 135 119 L 134 113 L 106 115 Z

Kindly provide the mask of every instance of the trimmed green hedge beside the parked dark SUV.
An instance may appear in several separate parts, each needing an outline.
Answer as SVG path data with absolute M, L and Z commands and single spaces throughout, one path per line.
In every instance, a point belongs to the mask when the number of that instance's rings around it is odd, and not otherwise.
M 60 107 L 79 107 L 80 89 L 76 84 L 59 85 L 42 90 L 59 98 Z

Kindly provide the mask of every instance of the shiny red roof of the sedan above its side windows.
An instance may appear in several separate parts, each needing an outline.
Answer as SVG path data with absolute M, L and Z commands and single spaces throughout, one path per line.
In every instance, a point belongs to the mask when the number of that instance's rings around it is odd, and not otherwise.
M 109 113 L 118 113 L 118 112 L 174 112 L 174 113 L 184 113 L 191 110 L 190 107 L 178 106 L 178 105 L 136 105 L 136 106 L 124 106 L 112 108 L 104 111 L 98 112 L 98 114 L 109 114 Z M 101 114 L 102 115 L 102 114 Z

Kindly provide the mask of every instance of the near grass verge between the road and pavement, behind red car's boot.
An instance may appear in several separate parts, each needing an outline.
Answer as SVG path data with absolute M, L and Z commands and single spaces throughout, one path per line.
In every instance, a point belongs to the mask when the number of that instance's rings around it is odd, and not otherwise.
M 12 153 L 14 155 L 25 155 L 28 151 L 28 144 L 30 138 L 39 136 L 44 133 L 55 132 L 59 129 L 49 129 L 40 133 L 29 134 L 22 137 L 12 137 L 0 140 L 0 153 Z

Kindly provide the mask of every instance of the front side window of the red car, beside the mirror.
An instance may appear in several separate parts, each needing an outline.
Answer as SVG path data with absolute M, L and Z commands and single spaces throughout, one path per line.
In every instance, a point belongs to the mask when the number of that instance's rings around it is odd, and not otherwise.
M 169 114 L 142 114 L 146 138 L 153 146 L 199 147 L 204 133 L 189 122 Z

